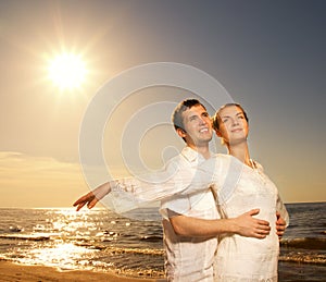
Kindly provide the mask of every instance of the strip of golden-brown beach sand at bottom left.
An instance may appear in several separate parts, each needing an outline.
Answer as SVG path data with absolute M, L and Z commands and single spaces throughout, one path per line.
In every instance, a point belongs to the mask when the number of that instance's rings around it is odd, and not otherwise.
M 93 271 L 59 271 L 55 268 L 39 266 L 22 266 L 0 260 L 1 281 L 24 282 L 67 282 L 67 281 L 120 281 L 120 282 L 152 282 L 153 279 L 134 279 L 118 277 L 113 273 Z

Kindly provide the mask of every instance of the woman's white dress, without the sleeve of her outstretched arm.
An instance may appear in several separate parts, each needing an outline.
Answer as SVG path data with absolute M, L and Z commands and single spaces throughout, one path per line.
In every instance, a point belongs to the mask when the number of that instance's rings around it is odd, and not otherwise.
M 288 222 L 288 214 L 274 183 L 262 167 L 254 169 L 233 156 L 216 158 L 214 182 L 218 210 L 224 218 L 236 218 L 259 208 L 256 218 L 269 222 L 271 233 L 264 240 L 240 235 L 221 236 L 215 256 L 215 281 L 277 281 L 279 242 L 276 234 L 276 211 Z

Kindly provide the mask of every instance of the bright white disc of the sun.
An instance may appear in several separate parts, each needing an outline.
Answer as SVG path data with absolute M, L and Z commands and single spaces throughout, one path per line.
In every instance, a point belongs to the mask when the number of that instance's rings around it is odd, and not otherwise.
M 86 65 L 80 56 L 62 53 L 49 64 L 49 78 L 60 89 L 79 88 L 85 82 Z

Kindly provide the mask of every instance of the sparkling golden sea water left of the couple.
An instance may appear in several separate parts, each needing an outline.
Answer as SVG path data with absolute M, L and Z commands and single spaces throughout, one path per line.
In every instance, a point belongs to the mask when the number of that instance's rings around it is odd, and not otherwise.
M 148 234 L 147 224 L 105 209 L 79 212 L 68 208 L 17 209 L 10 210 L 5 217 L 8 226 L 22 226 L 2 234 L 0 258 L 10 261 L 61 271 L 87 269 L 135 275 L 139 271 L 143 273 L 150 261 L 158 260 L 154 266 L 158 269 L 163 266 L 161 245 L 148 240 L 153 232 Z M 7 225 L 0 222 L 2 230 Z M 152 235 L 154 240 L 156 236 L 161 242 L 160 235 Z M 153 252 L 148 254 L 143 248 Z

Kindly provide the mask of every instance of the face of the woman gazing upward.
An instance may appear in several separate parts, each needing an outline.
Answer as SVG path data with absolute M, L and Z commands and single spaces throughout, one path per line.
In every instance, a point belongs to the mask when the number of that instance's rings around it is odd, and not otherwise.
M 239 107 L 228 106 L 222 109 L 218 115 L 220 128 L 216 134 L 224 139 L 224 143 L 235 145 L 247 140 L 249 125 Z

